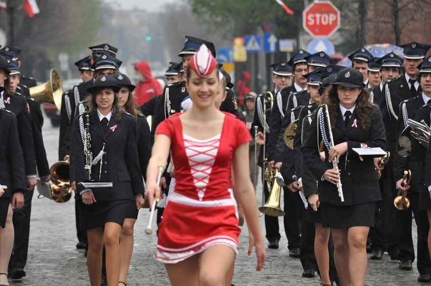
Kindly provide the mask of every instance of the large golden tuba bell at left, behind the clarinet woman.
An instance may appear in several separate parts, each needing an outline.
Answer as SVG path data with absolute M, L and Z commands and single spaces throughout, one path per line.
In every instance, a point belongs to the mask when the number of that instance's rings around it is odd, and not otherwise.
M 56 70 L 51 70 L 49 81 L 30 87 L 29 90 L 30 97 L 39 102 L 54 104 L 60 112 L 63 85 Z

